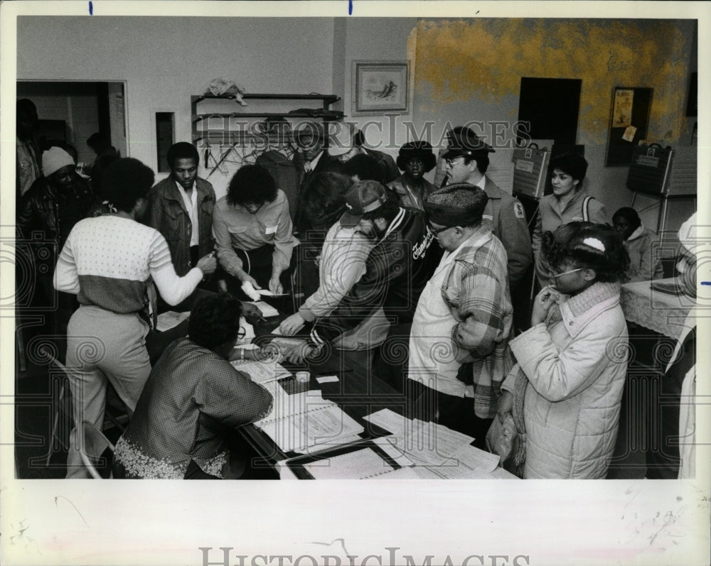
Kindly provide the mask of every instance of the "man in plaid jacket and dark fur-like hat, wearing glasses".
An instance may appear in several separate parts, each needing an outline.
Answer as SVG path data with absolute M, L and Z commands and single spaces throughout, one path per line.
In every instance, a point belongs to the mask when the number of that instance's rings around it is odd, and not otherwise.
M 419 296 L 407 373 L 427 400 L 418 404 L 435 409 L 422 418 L 473 436 L 481 448 L 501 381 L 513 366 L 506 251 L 482 220 L 487 201 L 480 187 L 458 183 L 424 203 L 429 231 L 444 256 Z M 461 381 L 459 369 L 467 361 L 472 371 Z

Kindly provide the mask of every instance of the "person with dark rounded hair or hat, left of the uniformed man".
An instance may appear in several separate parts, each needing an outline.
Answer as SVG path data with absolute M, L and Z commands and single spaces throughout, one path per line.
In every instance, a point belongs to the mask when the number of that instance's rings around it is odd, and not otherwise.
M 397 155 L 397 167 L 402 175 L 388 185 L 397 194 L 403 207 L 423 209 L 427 195 L 436 188 L 424 179 L 437 165 L 437 158 L 432 145 L 427 141 L 409 141 L 400 148 Z

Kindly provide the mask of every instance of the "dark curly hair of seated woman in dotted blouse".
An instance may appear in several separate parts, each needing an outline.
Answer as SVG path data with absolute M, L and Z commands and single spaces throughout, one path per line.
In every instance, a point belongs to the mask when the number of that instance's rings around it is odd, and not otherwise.
M 207 349 L 225 342 L 237 342 L 242 303 L 229 293 L 210 295 L 198 301 L 190 312 L 188 338 Z

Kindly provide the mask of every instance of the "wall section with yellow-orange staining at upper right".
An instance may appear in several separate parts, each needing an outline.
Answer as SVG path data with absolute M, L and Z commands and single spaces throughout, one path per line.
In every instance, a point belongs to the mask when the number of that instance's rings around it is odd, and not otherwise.
M 408 47 L 417 60 L 413 119 L 418 127 L 434 122 L 435 132 L 447 121 L 513 122 L 520 77 L 580 78 L 577 143 L 589 161 L 586 183 L 614 212 L 629 206 L 632 193 L 628 168 L 604 166 L 612 89 L 653 87 L 648 138 L 685 143 L 695 121 L 684 116 L 694 31 L 691 20 L 419 21 Z M 491 127 L 483 134 L 491 141 Z M 505 141 L 512 138 L 509 131 Z M 510 168 L 510 156 L 498 148 L 492 168 Z M 648 206 L 656 217 L 656 202 Z

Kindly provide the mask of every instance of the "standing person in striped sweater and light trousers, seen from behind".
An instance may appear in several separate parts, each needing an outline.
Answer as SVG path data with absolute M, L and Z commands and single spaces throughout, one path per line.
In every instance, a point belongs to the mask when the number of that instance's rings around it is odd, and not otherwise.
M 149 281 L 167 303 L 176 305 L 217 266 L 215 258 L 204 256 L 183 277 L 176 275 L 166 239 L 139 222 L 153 182 L 153 171 L 137 159 L 110 165 L 104 190 L 112 212 L 77 222 L 59 256 L 55 288 L 77 294 L 80 303 L 67 332 L 75 423 L 89 420 L 101 429 L 107 380 L 133 412 L 151 372 L 149 323 L 141 317 Z M 67 477 L 88 477 L 76 429 L 70 435 Z

